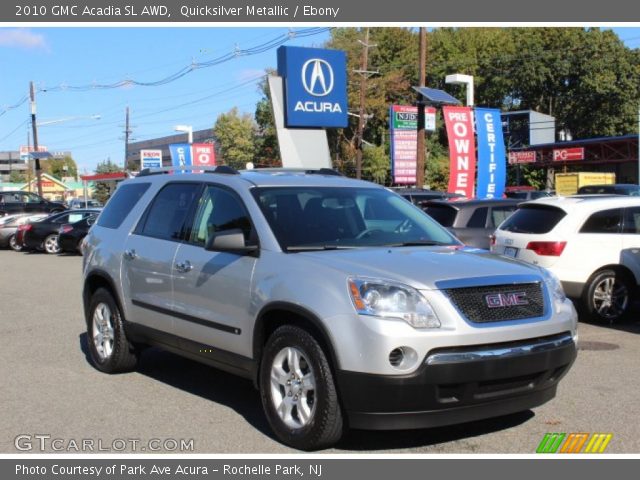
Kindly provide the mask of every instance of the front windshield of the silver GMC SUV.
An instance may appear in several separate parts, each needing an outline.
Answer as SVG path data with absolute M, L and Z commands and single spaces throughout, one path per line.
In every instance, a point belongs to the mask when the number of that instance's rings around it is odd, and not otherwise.
M 459 245 L 419 208 L 384 189 L 262 187 L 254 195 L 288 251 Z

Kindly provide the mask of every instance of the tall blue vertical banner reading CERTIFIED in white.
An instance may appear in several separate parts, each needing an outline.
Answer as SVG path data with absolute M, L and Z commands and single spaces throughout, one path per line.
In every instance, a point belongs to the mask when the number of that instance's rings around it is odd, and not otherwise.
M 500 110 L 476 108 L 478 134 L 477 198 L 502 198 L 507 180 L 507 163 Z

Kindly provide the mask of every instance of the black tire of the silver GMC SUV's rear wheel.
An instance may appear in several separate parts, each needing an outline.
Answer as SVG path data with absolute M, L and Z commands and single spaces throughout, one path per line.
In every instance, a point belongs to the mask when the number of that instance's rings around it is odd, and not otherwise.
M 104 313 L 103 306 L 106 306 L 110 312 L 110 315 L 102 315 L 102 318 L 107 318 L 111 325 L 111 332 L 107 335 L 107 338 L 112 337 L 111 342 L 107 341 L 110 348 L 105 347 L 106 343 L 101 341 L 108 329 L 105 328 L 104 322 L 100 322 L 101 315 L 96 312 L 100 308 L 100 311 Z M 121 373 L 135 369 L 138 363 L 138 354 L 135 347 L 127 339 L 122 313 L 111 292 L 104 288 L 96 290 L 91 296 L 89 315 L 86 320 L 87 343 L 93 365 L 105 373 Z M 99 324 L 102 324 L 102 328 Z M 102 337 L 97 337 L 99 332 L 103 334 Z

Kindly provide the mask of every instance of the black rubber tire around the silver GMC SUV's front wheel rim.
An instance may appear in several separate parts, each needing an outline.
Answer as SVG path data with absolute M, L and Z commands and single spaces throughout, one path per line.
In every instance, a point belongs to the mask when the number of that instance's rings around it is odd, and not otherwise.
M 291 348 L 301 354 L 305 369 L 312 373 L 315 385 L 311 415 L 308 422 L 298 428 L 287 425 L 277 413 L 277 400 L 274 400 L 271 382 L 271 370 L 276 357 L 285 349 Z M 283 443 L 300 450 L 318 450 L 330 447 L 340 440 L 344 421 L 333 373 L 322 347 L 307 331 L 293 325 L 285 325 L 273 332 L 263 350 L 259 383 L 267 420 Z M 282 394 L 285 394 L 284 389 Z M 300 398 L 303 398 L 302 395 Z M 299 412 L 299 407 L 294 408 L 295 412 Z M 299 413 L 295 415 L 300 418 Z

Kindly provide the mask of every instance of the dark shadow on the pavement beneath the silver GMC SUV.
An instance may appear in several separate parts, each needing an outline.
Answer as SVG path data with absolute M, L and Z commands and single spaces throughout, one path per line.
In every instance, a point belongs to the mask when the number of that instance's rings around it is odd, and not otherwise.
M 87 334 L 80 334 L 79 341 L 87 362 L 91 364 Z M 224 405 L 241 415 L 260 433 L 276 442 L 278 441 L 262 411 L 260 394 L 246 379 L 159 348 L 144 350 L 136 372 L 192 395 L 198 395 Z M 461 448 L 464 448 L 465 451 L 473 450 L 473 445 L 470 445 L 472 437 L 508 429 L 525 423 L 533 417 L 534 413 L 527 410 L 493 419 L 431 429 L 350 430 L 334 448 L 339 451 L 392 450 L 428 447 L 462 440 L 465 441 L 465 446 Z

